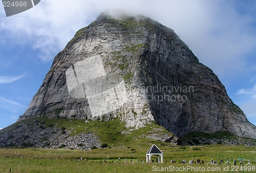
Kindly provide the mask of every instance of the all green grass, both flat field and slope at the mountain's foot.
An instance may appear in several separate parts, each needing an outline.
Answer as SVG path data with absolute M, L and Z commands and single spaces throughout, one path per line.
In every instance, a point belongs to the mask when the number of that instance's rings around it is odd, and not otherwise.
M 47 117 L 31 117 L 18 121 L 10 127 L 19 128 L 20 123 L 32 124 L 34 120 L 39 122 L 41 127 L 60 128 L 78 135 L 82 132 L 92 132 L 99 136 L 102 143 L 107 143 L 106 149 L 95 149 L 89 151 L 71 149 L 33 149 L 9 147 L 0 149 L 0 172 L 253 172 L 256 166 L 256 146 L 228 146 L 228 145 L 203 145 L 203 146 L 178 146 L 154 139 L 144 137 L 151 133 L 168 134 L 169 132 L 156 123 L 147 125 L 138 130 L 126 129 L 124 123 L 118 118 L 111 121 L 90 121 L 89 123 L 79 119 Z M 38 127 L 40 128 L 40 127 Z M 7 128 L 8 129 L 8 128 Z M 218 138 L 234 138 L 226 132 L 215 134 L 202 134 L 199 132 L 190 133 L 187 138 L 193 136 L 205 136 Z M 185 139 L 185 138 L 184 138 Z M 145 163 L 145 153 L 152 144 L 156 144 L 163 152 L 163 160 L 166 163 L 157 164 L 156 156 L 152 158 L 154 163 Z M 109 157 L 109 159 L 108 159 Z M 120 157 L 120 161 L 119 158 Z M 82 158 L 82 160 L 81 160 Z M 103 159 L 106 159 L 104 162 Z M 125 158 L 127 162 L 125 163 Z M 204 164 L 189 165 L 191 159 L 203 160 Z M 245 163 L 239 164 L 239 158 Z M 186 159 L 187 163 L 179 163 Z M 230 160 L 231 164 L 225 163 L 211 165 L 210 160 L 224 162 Z M 233 159 L 236 159 L 238 167 L 232 167 Z M 245 161 L 244 161 L 245 159 Z M 250 159 L 251 165 L 247 165 Z M 132 160 L 132 161 L 131 161 Z M 175 160 L 176 163 L 170 163 Z M 144 161 L 144 163 L 143 163 Z M 174 167 L 173 167 L 174 166 Z M 183 166 L 185 169 L 183 169 Z M 193 166 L 194 169 L 186 169 Z M 228 166 L 228 167 L 227 167 Z M 182 170 L 177 170 L 182 168 Z M 191 167 L 190 167 L 191 168 Z M 228 171 L 224 171 L 224 168 Z M 207 171 L 207 170 L 210 171 Z

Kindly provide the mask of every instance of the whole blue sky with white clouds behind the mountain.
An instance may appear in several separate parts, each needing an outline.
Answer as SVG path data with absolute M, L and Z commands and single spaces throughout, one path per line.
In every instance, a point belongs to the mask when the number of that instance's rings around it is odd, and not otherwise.
M 105 9 L 174 29 L 256 125 L 256 1 L 41 0 L 10 17 L 0 5 L 0 128 L 25 112 L 55 55 Z

